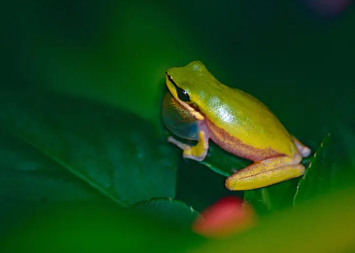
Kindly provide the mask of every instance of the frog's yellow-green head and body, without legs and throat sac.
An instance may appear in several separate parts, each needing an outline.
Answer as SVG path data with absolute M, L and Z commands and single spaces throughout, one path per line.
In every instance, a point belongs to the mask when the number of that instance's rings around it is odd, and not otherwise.
M 190 96 L 189 102 L 179 102 L 207 120 L 211 139 L 227 151 L 252 161 L 299 153 L 293 137 L 267 106 L 220 83 L 202 62 L 173 67 L 166 74 Z M 167 86 L 177 98 L 175 87 Z

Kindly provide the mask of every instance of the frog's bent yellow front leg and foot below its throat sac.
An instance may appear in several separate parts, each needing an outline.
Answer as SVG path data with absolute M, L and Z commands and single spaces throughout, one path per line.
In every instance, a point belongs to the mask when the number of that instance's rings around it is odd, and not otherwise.
M 201 162 L 207 156 L 209 145 L 208 145 L 208 138 L 206 137 L 206 133 L 204 131 L 199 132 L 199 142 L 197 143 L 196 146 L 190 146 L 185 143 L 179 142 L 173 137 L 169 137 L 167 141 L 184 150 L 183 152 L 184 158 Z

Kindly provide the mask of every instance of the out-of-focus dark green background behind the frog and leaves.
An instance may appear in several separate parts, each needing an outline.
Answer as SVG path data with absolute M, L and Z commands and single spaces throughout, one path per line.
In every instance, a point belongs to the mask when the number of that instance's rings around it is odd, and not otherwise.
M 308 145 L 338 120 L 354 123 L 353 5 L 336 16 L 296 0 L 17 0 L 0 10 L 4 89 L 82 96 L 159 129 L 164 71 L 201 60 Z M 199 211 L 238 194 L 193 161 L 180 161 L 178 179 L 176 197 Z

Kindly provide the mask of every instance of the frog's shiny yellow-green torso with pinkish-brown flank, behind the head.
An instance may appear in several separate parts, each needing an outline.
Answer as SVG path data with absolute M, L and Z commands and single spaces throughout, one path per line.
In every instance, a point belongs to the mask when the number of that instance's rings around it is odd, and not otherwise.
M 236 152 L 229 150 L 230 152 L 251 159 L 248 157 L 250 154 L 243 153 L 243 149 L 253 148 L 256 157 L 251 160 L 277 155 L 293 156 L 297 153 L 292 136 L 279 119 L 252 95 L 215 83 L 212 92 L 204 97 L 203 102 L 206 104 L 205 108 L 210 108 L 202 113 L 207 116 L 214 141 L 220 146 L 235 144 L 235 149 L 239 149 Z M 223 138 L 221 135 L 224 135 Z M 226 135 L 229 135 L 227 139 L 229 138 L 230 144 L 228 141 L 226 144 Z M 221 138 L 224 143 L 218 143 Z M 223 148 L 228 150 L 228 147 Z

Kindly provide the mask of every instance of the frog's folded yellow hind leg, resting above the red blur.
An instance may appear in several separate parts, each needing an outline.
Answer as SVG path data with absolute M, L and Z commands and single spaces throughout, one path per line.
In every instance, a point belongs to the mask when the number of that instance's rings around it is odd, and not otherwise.
M 302 176 L 305 168 L 299 164 L 301 160 L 297 155 L 253 163 L 228 177 L 226 187 L 233 191 L 252 190 Z

